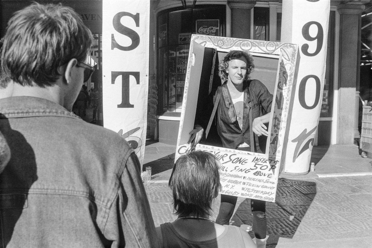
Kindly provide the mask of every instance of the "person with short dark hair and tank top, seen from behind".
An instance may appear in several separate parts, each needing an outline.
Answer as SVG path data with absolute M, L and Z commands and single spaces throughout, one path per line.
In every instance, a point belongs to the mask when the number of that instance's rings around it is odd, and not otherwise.
M 177 159 L 169 187 L 178 218 L 156 228 L 164 248 L 256 247 L 245 230 L 209 219 L 212 201 L 221 189 L 219 166 L 216 157 L 205 151 L 193 151 Z

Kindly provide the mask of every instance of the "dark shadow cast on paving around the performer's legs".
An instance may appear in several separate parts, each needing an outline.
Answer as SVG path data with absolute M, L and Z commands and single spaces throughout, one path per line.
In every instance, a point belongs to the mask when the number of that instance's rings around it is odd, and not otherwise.
M 302 218 L 316 195 L 316 183 L 302 180 L 279 179 L 276 202 L 266 202 L 267 246 L 276 247 L 279 237 L 293 238 Z M 252 225 L 250 199 L 238 206 L 232 217 L 232 225 Z M 299 230 L 301 232 L 301 230 Z M 249 234 L 254 238 L 253 231 Z

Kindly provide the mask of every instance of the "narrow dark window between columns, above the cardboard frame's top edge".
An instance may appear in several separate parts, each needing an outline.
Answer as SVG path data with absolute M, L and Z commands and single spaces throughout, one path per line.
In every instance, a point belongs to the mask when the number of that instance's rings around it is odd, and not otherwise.
M 269 8 L 253 8 L 253 39 L 269 40 Z

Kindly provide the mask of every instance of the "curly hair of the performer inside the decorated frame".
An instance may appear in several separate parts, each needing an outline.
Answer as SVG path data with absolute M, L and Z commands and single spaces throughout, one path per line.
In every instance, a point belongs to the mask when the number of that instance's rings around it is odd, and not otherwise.
M 228 78 L 228 73 L 226 71 L 228 70 L 229 67 L 229 61 L 233 59 L 239 59 L 241 57 L 244 57 L 247 60 L 246 79 L 250 78 L 249 74 L 251 74 L 251 72 L 254 69 L 252 55 L 245 51 L 231 50 L 230 52 L 227 53 L 225 58 L 221 60 L 221 63 L 219 63 L 218 65 L 218 75 L 223 81 L 227 81 Z

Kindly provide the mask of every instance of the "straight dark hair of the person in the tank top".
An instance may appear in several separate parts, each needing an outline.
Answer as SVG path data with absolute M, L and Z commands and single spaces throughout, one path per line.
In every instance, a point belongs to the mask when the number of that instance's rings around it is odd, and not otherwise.
M 211 215 L 212 200 L 221 189 L 219 166 L 206 151 L 192 151 L 177 159 L 169 179 L 176 215 Z

